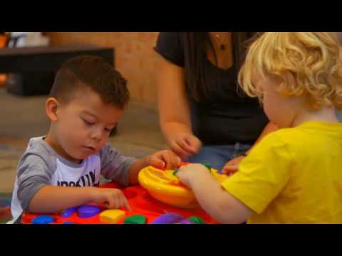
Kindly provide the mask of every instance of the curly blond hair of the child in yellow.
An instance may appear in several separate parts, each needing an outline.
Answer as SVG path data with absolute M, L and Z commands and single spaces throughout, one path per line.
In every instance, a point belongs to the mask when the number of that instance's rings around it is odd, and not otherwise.
M 249 47 L 239 84 L 251 97 L 262 92 L 254 77 L 280 78 L 278 92 L 305 95 L 309 107 L 342 108 L 341 46 L 331 32 L 267 32 Z

